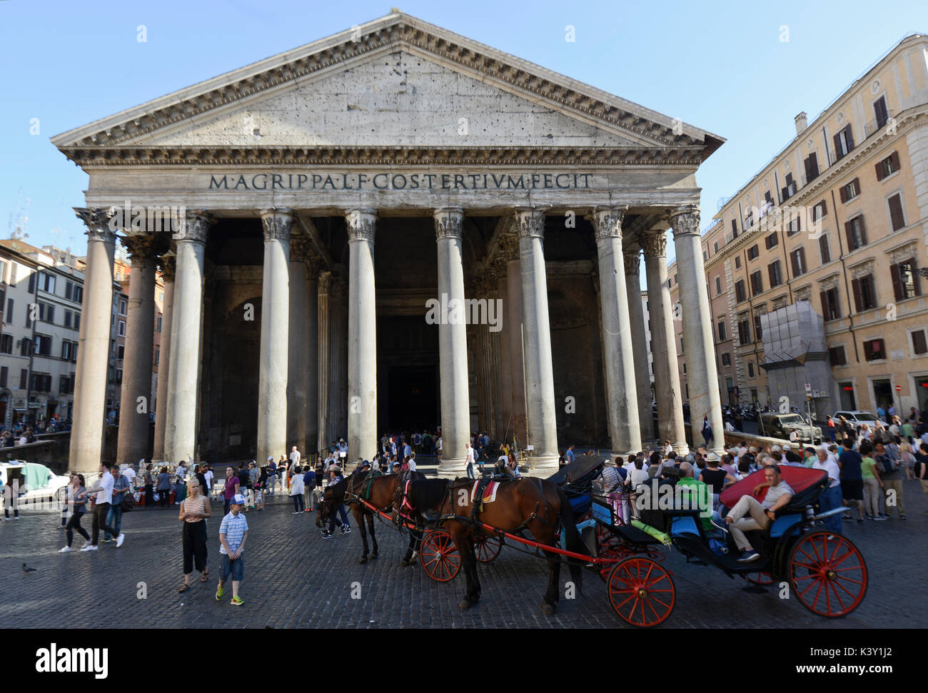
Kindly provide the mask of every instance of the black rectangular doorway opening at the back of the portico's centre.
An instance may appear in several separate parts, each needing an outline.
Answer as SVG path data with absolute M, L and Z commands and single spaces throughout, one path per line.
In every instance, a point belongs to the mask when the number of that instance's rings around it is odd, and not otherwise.
M 387 428 L 435 430 L 438 427 L 438 369 L 388 366 Z

